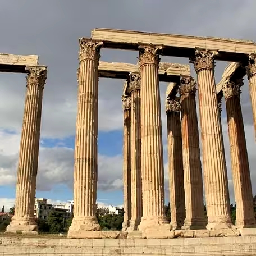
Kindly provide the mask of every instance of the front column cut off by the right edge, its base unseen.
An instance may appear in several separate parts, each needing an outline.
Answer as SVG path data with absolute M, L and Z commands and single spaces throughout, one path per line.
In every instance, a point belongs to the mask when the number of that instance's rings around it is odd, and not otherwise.
M 252 103 L 253 123 L 256 138 L 256 53 L 249 55 L 249 62 L 246 66 L 246 73 L 249 80 L 249 92 Z

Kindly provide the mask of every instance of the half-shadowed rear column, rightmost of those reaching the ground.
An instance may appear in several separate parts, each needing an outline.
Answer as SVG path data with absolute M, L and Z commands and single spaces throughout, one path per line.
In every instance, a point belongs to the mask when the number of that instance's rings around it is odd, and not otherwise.
M 243 80 L 227 80 L 223 84 L 226 102 L 230 156 L 236 201 L 236 227 L 255 227 L 252 183 L 240 105 Z

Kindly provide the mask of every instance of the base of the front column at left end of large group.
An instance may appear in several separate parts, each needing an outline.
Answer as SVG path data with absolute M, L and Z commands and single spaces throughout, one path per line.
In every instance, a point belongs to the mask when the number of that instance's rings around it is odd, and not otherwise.
M 98 220 L 95 216 L 74 216 L 68 231 L 99 231 Z

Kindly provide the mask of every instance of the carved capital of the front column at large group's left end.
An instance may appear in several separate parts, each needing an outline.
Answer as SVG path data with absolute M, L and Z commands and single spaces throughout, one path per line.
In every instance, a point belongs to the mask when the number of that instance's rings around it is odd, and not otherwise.
M 95 60 L 99 61 L 100 49 L 103 46 L 103 42 L 97 42 L 93 39 L 79 38 L 79 60 Z

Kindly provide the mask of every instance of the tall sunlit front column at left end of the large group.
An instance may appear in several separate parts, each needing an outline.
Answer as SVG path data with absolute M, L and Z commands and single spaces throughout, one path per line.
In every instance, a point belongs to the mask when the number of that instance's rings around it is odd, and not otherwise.
M 79 39 L 79 86 L 74 166 L 74 218 L 68 237 L 100 230 L 96 218 L 98 179 L 98 65 L 102 42 Z

